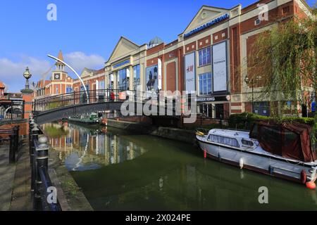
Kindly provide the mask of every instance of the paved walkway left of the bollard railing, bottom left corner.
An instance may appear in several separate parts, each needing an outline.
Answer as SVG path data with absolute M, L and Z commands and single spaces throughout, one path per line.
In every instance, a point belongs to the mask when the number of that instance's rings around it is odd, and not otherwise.
M 26 140 L 25 140 L 26 141 Z M 32 210 L 30 156 L 23 143 L 15 164 L 8 163 L 8 145 L 0 146 L 0 210 Z

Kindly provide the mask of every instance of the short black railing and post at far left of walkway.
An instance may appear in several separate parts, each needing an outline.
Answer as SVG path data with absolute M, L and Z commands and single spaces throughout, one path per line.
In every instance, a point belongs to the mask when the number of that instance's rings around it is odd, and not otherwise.
M 16 155 L 19 147 L 19 128 L 19 126 L 15 126 L 12 129 L 0 129 L 1 135 L 8 136 L 8 138 L 1 138 L 0 142 L 10 141 L 9 163 L 16 162 Z

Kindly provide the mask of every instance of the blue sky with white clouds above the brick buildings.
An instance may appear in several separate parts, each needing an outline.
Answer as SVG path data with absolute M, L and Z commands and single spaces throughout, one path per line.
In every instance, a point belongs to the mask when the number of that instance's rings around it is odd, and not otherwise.
M 46 57 L 63 51 L 80 72 L 99 69 L 120 36 L 137 44 L 161 37 L 177 39 L 202 5 L 232 8 L 255 0 L 2 0 L 0 5 L 0 80 L 9 91 L 23 88 L 22 74 L 30 66 L 33 80 L 54 64 Z M 307 3 L 313 5 L 316 0 Z M 56 4 L 57 21 L 46 19 L 48 4 Z M 135 26 L 131 26 L 130 23 Z M 73 63 L 73 64 L 72 64 Z

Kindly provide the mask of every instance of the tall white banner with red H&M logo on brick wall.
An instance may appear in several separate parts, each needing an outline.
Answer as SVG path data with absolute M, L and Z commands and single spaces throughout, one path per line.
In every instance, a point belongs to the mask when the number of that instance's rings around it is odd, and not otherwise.
M 196 90 L 195 70 L 195 53 L 192 52 L 185 56 L 185 90 L 187 93 Z

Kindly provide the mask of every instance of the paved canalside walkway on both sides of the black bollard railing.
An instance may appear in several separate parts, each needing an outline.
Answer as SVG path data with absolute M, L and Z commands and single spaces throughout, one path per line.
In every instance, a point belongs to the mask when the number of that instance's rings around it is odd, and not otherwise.
M 8 145 L 0 146 L 0 211 L 31 211 L 30 155 L 27 139 L 15 164 L 8 163 Z M 63 211 L 93 210 L 56 151 L 49 151 L 49 174 Z

